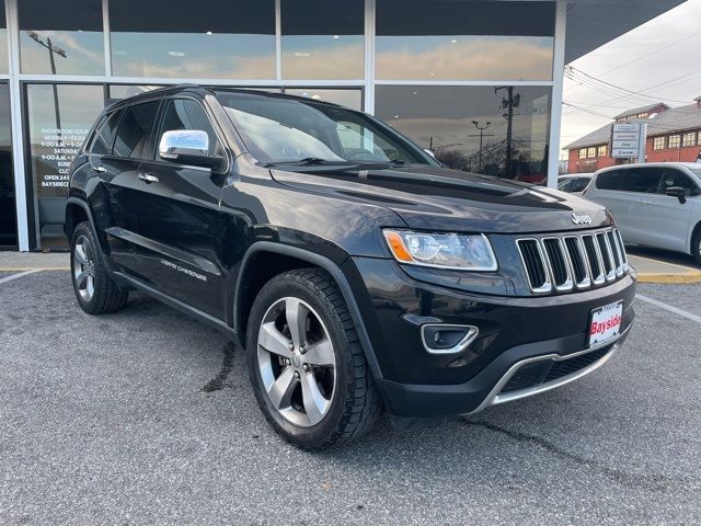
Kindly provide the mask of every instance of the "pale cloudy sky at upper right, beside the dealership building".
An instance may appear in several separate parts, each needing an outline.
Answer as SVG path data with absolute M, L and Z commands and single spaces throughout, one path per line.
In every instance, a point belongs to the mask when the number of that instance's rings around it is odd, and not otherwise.
M 573 61 L 600 81 L 650 96 L 627 95 L 582 75 L 577 81 L 565 78 L 563 101 L 586 112 L 563 106 L 561 146 L 611 122 L 588 112 L 612 117 L 658 101 L 673 107 L 691 104 L 701 95 L 700 49 L 701 0 L 688 0 Z

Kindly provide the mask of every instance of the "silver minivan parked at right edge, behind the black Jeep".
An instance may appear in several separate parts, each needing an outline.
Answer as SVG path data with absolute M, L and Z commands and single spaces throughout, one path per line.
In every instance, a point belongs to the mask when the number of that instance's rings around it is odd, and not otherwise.
M 690 253 L 701 264 L 701 164 L 624 164 L 594 174 L 584 197 L 616 216 L 627 243 Z

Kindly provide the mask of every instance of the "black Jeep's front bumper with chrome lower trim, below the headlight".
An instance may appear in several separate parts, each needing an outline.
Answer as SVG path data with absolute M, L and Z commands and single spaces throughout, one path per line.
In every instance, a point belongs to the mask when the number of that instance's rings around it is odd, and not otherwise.
M 354 263 L 369 293 L 361 311 L 382 371 L 376 384 L 397 418 L 472 413 L 573 381 L 610 358 L 635 316 L 634 273 L 582 293 L 509 297 L 418 282 L 392 261 Z M 619 300 L 619 338 L 586 348 L 591 309 Z M 475 325 L 480 336 L 464 352 L 429 354 L 421 341 L 425 323 Z

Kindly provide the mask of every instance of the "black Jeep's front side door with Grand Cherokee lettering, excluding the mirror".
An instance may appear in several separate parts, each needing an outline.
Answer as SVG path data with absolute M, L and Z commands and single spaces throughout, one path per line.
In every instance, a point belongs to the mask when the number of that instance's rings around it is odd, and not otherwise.
M 210 153 L 225 155 L 214 119 L 202 101 L 177 96 L 163 103 L 158 137 L 204 130 Z M 161 293 L 223 319 L 219 202 L 225 173 L 154 158 L 139 170 L 139 236 L 146 281 Z

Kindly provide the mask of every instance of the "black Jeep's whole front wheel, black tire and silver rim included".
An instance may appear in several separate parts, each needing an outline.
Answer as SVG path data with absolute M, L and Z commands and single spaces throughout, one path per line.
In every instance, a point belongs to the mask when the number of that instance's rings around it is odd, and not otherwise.
M 298 447 L 345 444 L 382 412 L 348 308 L 322 270 L 286 272 L 262 288 L 249 317 L 246 356 L 266 420 Z

